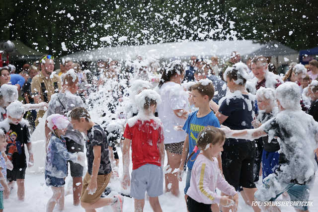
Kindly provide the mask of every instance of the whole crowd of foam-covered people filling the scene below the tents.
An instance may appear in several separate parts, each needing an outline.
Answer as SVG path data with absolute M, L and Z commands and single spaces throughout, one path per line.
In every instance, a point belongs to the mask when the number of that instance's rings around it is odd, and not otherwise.
M 25 171 L 36 159 L 30 133 L 41 121 L 48 212 L 64 208 L 68 169 L 73 204 L 87 212 L 122 211 L 126 196 L 136 212 L 145 199 L 161 212 L 159 196 L 181 190 L 189 212 L 237 211 L 239 194 L 255 212 L 268 209 L 253 201 L 280 195 L 309 201 L 318 163 L 317 60 L 307 68 L 292 63 L 281 75 L 268 58 L 243 63 L 239 52 L 223 66 L 196 56 L 189 63 L 98 60 L 91 71 L 70 58 L 55 70 L 55 62 L 44 55 L 20 72 L 0 70 L 0 210 L 14 181 L 24 200 Z M 109 195 L 116 179 L 129 193 Z

